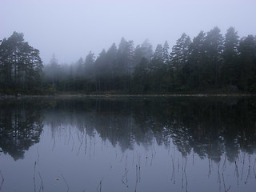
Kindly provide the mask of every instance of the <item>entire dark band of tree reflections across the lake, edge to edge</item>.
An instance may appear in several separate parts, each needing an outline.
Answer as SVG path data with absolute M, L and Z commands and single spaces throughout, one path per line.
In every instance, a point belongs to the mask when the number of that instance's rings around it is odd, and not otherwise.
M 15 160 L 39 142 L 43 123 L 52 134 L 77 127 L 90 137 L 120 146 L 147 148 L 172 143 L 186 157 L 230 162 L 238 150 L 256 149 L 256 101 L 253 98 L 54 98 L 2 103 L 0 147 Z M 44 117 L 42 117 L 44 114 Z

